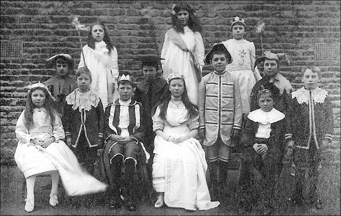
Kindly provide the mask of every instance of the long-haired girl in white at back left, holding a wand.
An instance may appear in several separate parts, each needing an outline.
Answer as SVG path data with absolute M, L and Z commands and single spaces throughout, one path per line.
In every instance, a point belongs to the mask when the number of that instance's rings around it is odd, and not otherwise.
M 118 94 L 117 50 L 110 40 L 107 29 L 100 22 L 93 25 L 88 35 L 88 44 L 83 47 L 78 64 L 78 68 L 85 66 L 91 71 L 93 78 L 91 88 L 102 100 L 104 109 L 117 98 Z

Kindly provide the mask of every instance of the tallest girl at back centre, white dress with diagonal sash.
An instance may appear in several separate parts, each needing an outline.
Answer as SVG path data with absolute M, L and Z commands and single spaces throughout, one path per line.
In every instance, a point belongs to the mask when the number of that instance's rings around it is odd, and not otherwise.
M 179 5 L 173 4 L 171 20 L 173 26 L 165 34 L 165 42 L 161 51 L 161 58 L 165 59 L 161 60 L 163 78 L 166 80 L 172 73 L 183 75 L 189 100 L 198 104 L 198 83 L 200 82 L 198 78 L 201 79 L 202 68 L 205 65 L 205 49 L 200 34 L 202 27 L 194 9 L 186 2 L 181 2 Z M 195 56 L 195 59 L 193 60 L 191 56 Z

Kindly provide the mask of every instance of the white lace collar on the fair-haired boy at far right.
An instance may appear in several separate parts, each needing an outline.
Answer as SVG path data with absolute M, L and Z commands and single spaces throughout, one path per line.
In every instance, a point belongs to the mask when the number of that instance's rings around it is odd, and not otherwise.
M 327 97 L 328 92 L 326 90 L 323 90 L 320 87 L 316 87 L 315 89 L 311 90 L 311 96 L 313 97 L 314 104 L 323 103 L 324 99 Z M 309 89 L 306 89 L 304 87 L 298 89 L 297 91 L 294 91 L 291 93 L 291 98 L 297 99 L 297 102 L 299 104 L 306 103 L 308 104 L 309 101 Z

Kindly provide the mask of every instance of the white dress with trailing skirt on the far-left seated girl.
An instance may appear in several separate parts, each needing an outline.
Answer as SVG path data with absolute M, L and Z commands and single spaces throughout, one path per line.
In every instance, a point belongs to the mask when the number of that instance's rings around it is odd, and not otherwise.
M 60 117 L 55 114 L 55 122 L 45 108 L 33 111 L 33 128 L 28 130 L 24 124 L 24 112 L 19 116 L 16 135 L 19 139 L 14 159 L 25 178 L 46 171 L 58 170 L 64 189 L 69 196 L 84 195 L 105 191 L 107 184 L 83 171 L 76 155 L 63 142 L 65 133 Z M 37 138 L 44 141 L 54 136 L 56 141 L 42 148 L 31 142 Z

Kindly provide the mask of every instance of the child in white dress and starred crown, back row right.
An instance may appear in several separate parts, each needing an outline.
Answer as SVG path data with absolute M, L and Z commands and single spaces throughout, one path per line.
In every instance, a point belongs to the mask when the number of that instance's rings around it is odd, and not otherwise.
M 252 87 L 262 77 L 258 71 L 254 71 L 256 61 L 256 48 L 253 42 L 244 39 L 246 33 L 245 20 L 234 17 L 231 24 L 232 39 L 224 41 L 226 49 L 232 56 L 232 63 L 226 66 L 229 73 L 238 77 L 240 93 L 243 104 L 243 123 L 250 112 L 250 95 Z M 245 124 L 243 124 L 245 125 Z

